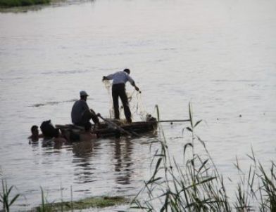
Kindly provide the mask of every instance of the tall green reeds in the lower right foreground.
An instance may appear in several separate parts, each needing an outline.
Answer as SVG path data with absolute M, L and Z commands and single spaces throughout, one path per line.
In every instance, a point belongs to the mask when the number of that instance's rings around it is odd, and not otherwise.
M 190 126 L 186 129 L 191 133 L 191 138 L 184 145 L 182 164 L 170 157 L 161 128 L 163 138 L 159 140 L 160 148 L 151 162 L 151 167 L 154 167 L 151 178 L 134 198 L 131 208 L 143 211 L 275 211 L 275 163 L 272 161 L 268 175 L 256 161 L 253 150 L 249 156 L 253 165 L 248 173 L 241 170 L 237 160 L 235 165 L 242 174 L 237 183 L 236 197 L 230 199 L 223 176 L 204 141 L 196 135 L 195 129 L 201 120 L 194 121 L 191 104 L 189 119 Z M 204 157 L 196 153 L 195 143 L 202 145 Z

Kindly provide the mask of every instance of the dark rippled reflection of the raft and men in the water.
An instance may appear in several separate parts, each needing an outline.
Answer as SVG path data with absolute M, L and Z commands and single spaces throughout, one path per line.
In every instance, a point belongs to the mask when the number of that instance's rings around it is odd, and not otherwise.
M 52 140 L 39 140 L 30 146 L 35 154 L 43 157 L 61 154 L 71 160 L 74 167 L 74 181 L 77 184 L 92 183 L 105 178 L 114 179 L 118 185 L 130 185 L 133 164 L 133 140 L 120 138 L 110 140 L 87 140 L 78 143 L 54 143 Z M 41 146 L 41 150 L 39 150 Z M 71 152 L 71 157 L 66 154 Z M 65 154 L 65 155 L 62 155 Z M 55 158 L 47 157 L 48 164 L 55 164 Z

